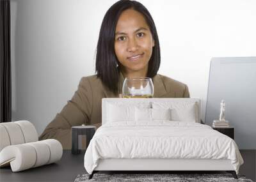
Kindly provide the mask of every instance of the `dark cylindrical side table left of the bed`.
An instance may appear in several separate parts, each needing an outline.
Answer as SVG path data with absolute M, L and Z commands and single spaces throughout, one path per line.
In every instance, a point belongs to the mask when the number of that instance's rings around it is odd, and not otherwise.
M 86 135 L 86 144 L 87 146 L 90 143 L 95 131 L 96 126 L 72 126 L 72 154 L 81 153 L 81 149 L 79 149 L 79 135 Z

